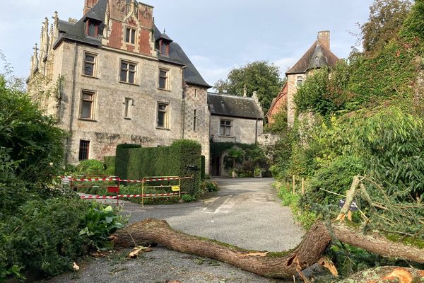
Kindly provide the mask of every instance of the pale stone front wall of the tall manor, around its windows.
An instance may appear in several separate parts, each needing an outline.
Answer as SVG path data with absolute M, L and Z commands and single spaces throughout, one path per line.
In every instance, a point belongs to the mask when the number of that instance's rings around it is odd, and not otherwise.
M 89 158 L 114 155 L 117 144 L 170 145 L 182 138 L 182 68 L 154 58 L 126 54 L 107 47 L 93 48 L 64 42 L 62 46 L 61 115 L 59 125 L 71 132 L 68 162 L 78 162 L 80 140 L 90 141 Z M 83 75 L 84 52 L 97 55 L 95 77 Z M 74 62 L 76 59 L 76 62 Z M 119 82 L 119 61 L 137 64 L 136 84 Z M 76 72 L 73 72 L 75 66 Z M 169 90 L 158 88 L 159 67 L 169 69 Z M 95 93 L 93 119 L 83 120 L 82 91 Z M 130 115 L 124 117 L 125 98 L 131 98 Z M 158 103 L 167 106 L 167 127 L 157 126 Z

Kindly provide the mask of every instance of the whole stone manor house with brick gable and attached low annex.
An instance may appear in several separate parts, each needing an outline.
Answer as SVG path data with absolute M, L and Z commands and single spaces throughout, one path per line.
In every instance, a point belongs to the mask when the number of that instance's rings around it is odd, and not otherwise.
M 153 6 L 85 0 L 78 21 L 46 18 L 40 41 L 28 90 L 69 132 L 67 163 L 112 156 L 118 144 L 194 139 L 209 172 L 211 140 L 252 144 L 262 133 L 257 97 L 208 93 L 182 47 L 156 27 Z

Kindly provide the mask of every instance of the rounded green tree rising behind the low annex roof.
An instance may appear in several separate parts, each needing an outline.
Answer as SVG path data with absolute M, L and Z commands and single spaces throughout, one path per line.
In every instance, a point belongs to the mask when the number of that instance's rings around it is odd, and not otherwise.
M 256 61 L 244 67 L 232 69 L 227 79 L 217 81 L 214 87 L 219 93 L 235 96 L 243 96 L 245 89 L 247 96 L 252 96 L 252 93 L 256 91 L 259 102 L 266 113 L 271 106 L 272 99 L 278 95 L 282 86 L 280 69 L 275 64 Z

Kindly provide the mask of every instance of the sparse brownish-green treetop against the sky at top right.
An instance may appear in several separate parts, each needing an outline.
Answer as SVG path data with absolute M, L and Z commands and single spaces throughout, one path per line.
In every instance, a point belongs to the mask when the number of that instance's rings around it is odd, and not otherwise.
M 364 50 L 373 52 L 387 45 L 399 33 L 410 10 L 408 0 L 375 0 L 368 22 L 360 26 Z

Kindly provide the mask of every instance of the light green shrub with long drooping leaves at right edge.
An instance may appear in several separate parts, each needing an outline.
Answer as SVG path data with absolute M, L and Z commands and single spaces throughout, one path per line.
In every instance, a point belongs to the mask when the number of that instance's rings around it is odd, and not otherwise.
M 360 122 L 358 146 L 368 174 L 398 200 L 413 201 L 424 193 L 424 124 L 399 108 L 380 110 Z

